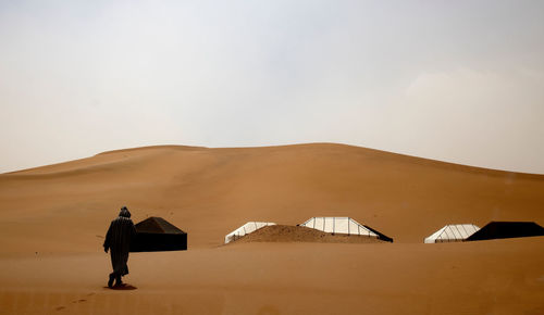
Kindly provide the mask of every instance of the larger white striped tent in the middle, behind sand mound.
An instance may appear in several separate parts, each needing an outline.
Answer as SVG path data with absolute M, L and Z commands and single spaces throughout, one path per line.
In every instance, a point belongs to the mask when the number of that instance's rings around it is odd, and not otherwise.
M 393 242 L 392 238 L 345 216 L 311 217 L 299 226 L 314 228 L 324 232 L 368 236 Z

